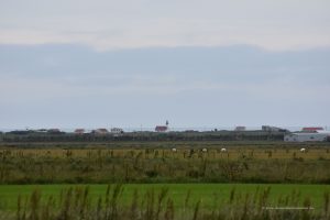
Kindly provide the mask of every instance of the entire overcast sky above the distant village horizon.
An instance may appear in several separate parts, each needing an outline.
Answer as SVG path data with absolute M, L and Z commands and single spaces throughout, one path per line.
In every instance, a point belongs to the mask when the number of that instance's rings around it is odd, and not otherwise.
M 328 0 L 0 0 L 0 129 L 330 125 Z

